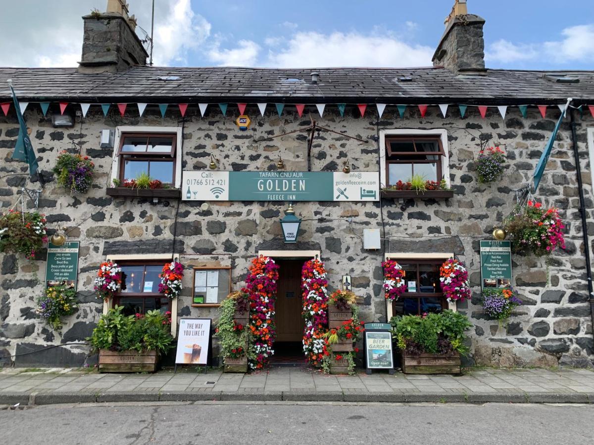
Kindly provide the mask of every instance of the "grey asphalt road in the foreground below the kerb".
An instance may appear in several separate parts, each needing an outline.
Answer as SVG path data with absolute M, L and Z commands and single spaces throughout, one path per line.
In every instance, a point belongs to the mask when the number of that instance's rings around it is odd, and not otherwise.
M 12 444 L 593 444 L 594 405 L 197 402 L 0 411 Z

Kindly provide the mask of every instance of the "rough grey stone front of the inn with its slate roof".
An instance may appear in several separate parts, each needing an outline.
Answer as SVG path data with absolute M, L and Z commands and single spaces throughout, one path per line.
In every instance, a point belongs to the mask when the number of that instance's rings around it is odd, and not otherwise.
M 127 73 L 137 76 L 137 82 L 144 82 L 144 86 L 150 89 L 156 84 L 153 80 L 165 74 L 184 80 L 192 75 L 208 76 L 208 70 L 141 66 Z M 43 96 L 43 100 L 47 101 L 70 101 L 69 107 L 74 113 L 78 106 L 72 103 L 73 96 L 68 96 L 72 93 L 65 93 L 75 89 L 74 85 L 68 84 L 71 80 L 67 79 L 72 77 L 72 71 L 75 70 L 45 70 L 41 77 L 37 75 L 37 86 L 27 85 L 24 88 L 20 81 L 30 79 L 29 70 L 2 68 L 0 82 L 12 78 L 20 100 L 40 101 Z M 220 69 L 219 72 L 222 71 Z M 317 70 L 320 81 L 316 87 L 327 85 L 333 80 L 332 76 L 339 73 L 346 78 L 339 83 L 357 85 L 356 93 L 351 97 L 342 93 L 337 97 L 320 95 L 312 93 L 312 88 L 306 95 L 305 88 L 312 86 L 309 77 L 312 70 L 293 70 L 293 76 L 301 82 L 291 87 L 292 93 L 283 90 L 285 87 L 282 85 L 266 97 L 258 96 L 260 93 L 250 93 L 251 98 L 239 96 L 239 85 L 245 85 L 245 82 L 252 91 L 271 90 L 271 81 L 267 77 L 287 78 L 289 74 L 286 71 L 229 69 L 232 77 L 235 75 L 230 87 L 223 86 L 225 82 L 206 84 L 198 88 L 201 97 L 191 100 L 182 98 L 184 93 L 176 93 L 175 89 L 162 93 L 166 96 L 157 100 L 147 100 L 144 93 L 120 94 L 125 90 L 122 84 L 106 78 L 106 85 L 94 88 L 87 95 L 87 100 L 81 99 L 79 94 L 77 102 L 91 101 L 92 97 L 96 104 L 129 103 L 124 116 L 120 116 L 115 105 L 106 116 L 98 105 L 91 106 L 86 117 L 75 117 L 75 125 L 67 129 L 54 128 L 49 115 L 44 117 L 39 107 L 30 104 L 25 118 L 40 170 L 48 180 L 40 196 L 39 210 L 47 215 L 50 229 L 64 228 L 68 240 L 80 241 L 78 294 L 81 304 L 74 316 L 65 319 L 61 332 L 49 329 L 35 314 L 35 300 L 44 286 L 45 256 L 40 253 L 36 260 L 30 261 L 22 256 L 0 254 L 0 364 L 93 363 L 93 357 L 88 354 L 89 348 L 81 343 L 90 335 L 103 310 L 102 301 L 97 300 L 92 290 L 97 268 L 106 258 L 120 260 L 127 256 L 137 258 L 137 255 L 146 255 L 165 261 L 172 255 L 178 256 L 188 272 L 182 296 L 173 306 L 174 319 L 179 322 L 179 318 L 185 316 L 217 318 L 214 307 L 192 307 L 192 266 L 231 266 L 232 287 L 238 289 L 244 284 L 249 262 L 258 253 L 299 250 L 320 252 L 331 290 L 340 287 L 343 275 L 352 277 L 353 290 L 360 297 L 361 319 L 366 321 L 384 321 L 388 317 L 381 287 L 381 262 L 386 254 L 413 253 L 419 258 L 422 254 L 453 253 L 469 268 L 473 287 L 472 300 L 457 303 L 457 310 L 467 313 L 475 325 L 470 333 L 468 363 L 500 366 L 593 365 L 592 314 L 569 117 L 558 133 L 536 195 L 543 205 L 560 209 L 567 225 L 565 250 L 559 250 L 548 258 L 513 256 L 513 284 L 521 295 L 523 305 L 514 311 L 507 326 L 486 320 L 478 304 L 481 282 L 479 240 L 491 239 L 493 228 L 516 204 L 516 190 L 530 182 L 545 142 L 560 116 L 556 105 L 564 103 L 568 97 L 563 88 L 573 88 L 571 93 L 576 106 L 586 104 L 587 100 L 594 102 L 591 88 L 588 90 L 580 84 L 567 87 L 543 80 L 544 73 L 536 72 L 527 81 L 526 74 L 522 72 L 493 70 L 460 77 L 454 70 L 446 68 L 344 69 L 342 74 L 340 69 L 336 69 Z M 377 90 L 383 88 L 387 75 L 390 80 L 394 78 L 390 81 L 394 85 L 392 88 L 405 91 L 405 96 L 397 96 L 393 90 L 387 90 L 384 96 L 378 97 Z M 74 76 L 75 82 L 86 84 L 89 88 L 90 82 L 94 85 L 100 83 L 91 74 Z M 211 77 L 216 76 L 217 72 Z M 582 73 L 580 76 L 591 80 L 594 73 Z M 413 81 L 409 84 L 396 80 L 405 77 Z M 444 97 L 442 91 L 437 93 L 426 89 L 427 82 L 431 82 L 427 79 L 432 77 L 438 79 L 435 88 L 441 87 L 441 77 L 459 81 L 462 89 L 458 87 Z M 133 79 L 128 79 L 128 85 L 134 82 Z M 534 85 L 536 79 L 546 83 L 539 87 Z M 56 80 L 58 84 L 64 82 L 64 91 L 48 95 L 43 88 L 44 82 Z M 159 82 L 163 84 L 163 81 Z M 414 85 L 419 82 L 425 92 L 415 91 Z M 501 93 L 510 82 L 516 82 L 519 90 L 515 96 Z M 500 96 L 482 97 L 482 90 L 492 88 L 493 84 L 500 85 L 495 87 Z M 183 82 L 180 85 L 177 91 L 184 90 Z M 447 82 L 444 85 L 450 87 Z M 546 99 L 538 96 L 542 85 L 549 87 L 545 94 L 541 94 Z M 229 91 L 221 92 L 221 88 Z M 0 87 L 2 101 L 10 100 L 3 90 Z M 182 100 L 190 103 L 183 118 L 176 106 Z M 235 103 L 239 101 L 248 103 L 245 114 L 252 123 L 247 131 L 240 131 L 235 123 L 238 115 Z M 143 116 L 138 116 L 135 102 L 153 104 L 149 104 Z M 341 115 L 334 104 L 343 102 L 347 106 Z M 164 117 L 157 107 L 158 103 L 170 103 Z M 198 103 L 209 104 L 204 116 Z M 229 103 L 226 116 L 218 103 Z M 260 115 L 257 103 L 268 103 L 264 116 Z M 275 103 L 286 104 L 280 116 Z M 305 104 L 301 117 L 292 106 L 295 103 Z M 316 103 L 327 103 L 322 117 L 318 115 Z M 356 106 L 358 103 L 369 104 L 364 117 Z M 381 118 L 375 103 L 388 104 Z M 408 104 L 403 117 L 396 107 L 396 104 L 402 103 Z M 416 107 L 423 103 L 434 104 L 429 106 L 424 117 Z M 437 106 L 440 103 L 450 104 L 445 117 Z M 472 106 L 462 117 L 457 107 L 459 103 L 490 107 L 484 119 Z M 522 103 L 544 103 L 551 107 L 545 118 L 535 106 L 528 108 L 526 117 L 514 106 L 510 106 L 502 117 L 496 107 Z M 54 106 L 57 107 L 57 104 L 52 104 Z M 589 128 L 594 128 L 594 120 L 586 113 L 582 117 L 575 111 L 572 113 L 577 122 L 577 150 L 587 225 L 592 235 L 594 196 L 587 134 Z M 177 156 L 181 158 L 181 169 L 184 171 L 208 170 L 211 155 L 217 160 L 217 169 L 223 171 L 276 171 L 279 157 L 287 171 L 307 171 L 309 134 L 295 132 L 279 138 L 273 136 L 308 126 L 310 116 L 315 116 L 319 125 L 333 131 L 315 132 L 311 146 L 311 171 L 340 171 L 348 160 L 352 172 L 377 172 L 385 156 L 382 139 L 387 134 L 408 130 L 418 134 L 447 135 L 444 150 L 447 152 L 448 174 L 445 179 L 454 190 L 453 198 L 427 199 L 421 196 L 402 200 L 381 198 L 375 202 L 298 202 L 294 205 L 295 212 L 303 220 L 298 241 L 285 244 L 279 218 L 283 217 L 286 202 L 210 201 L 204 205 L 204 201 L 121 198 L 106 194 L 106 189 L 111 186 L 112 162 L 117 157 L 118 147 L 100 148 L 102 130 L 112 129 L 117 134 L 118 129 L 124 127 L 150 127 L 156 132 L 164 127 L 178 128 L 182 143 L 177 148 Z M 17 135 L 18 125 L 13 109 L 8 116 L 0 117 L 0 202 L 3 210 L 14 204 L 21 187 L 31 187 L 26 164 L 11 158 Z M 355 136 L 365 142 L 346 136 Z M 506 153 L 508 166 L 498 183 L 485 185 L 478 182 L 474 163 L 481 141 L 499 146 Z M 81 150 L 95 163 L 97 174 L 86 195 L 71 195 L 56 184 L 51 170 L 62 150 Z M 381 249 L 364 249 L 362 234 L 366 228 L 381 229 Z M 58 347 L 20 355 L 50 346 Z

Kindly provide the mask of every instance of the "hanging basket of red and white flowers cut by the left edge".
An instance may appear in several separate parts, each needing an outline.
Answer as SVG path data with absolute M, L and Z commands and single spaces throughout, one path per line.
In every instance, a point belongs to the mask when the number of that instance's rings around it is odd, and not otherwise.
M 10 210 L 0 217 L 0 252 L 23 253 L 34 259 L 35 254 L 48 242 L 45 215 L 39 212 Z

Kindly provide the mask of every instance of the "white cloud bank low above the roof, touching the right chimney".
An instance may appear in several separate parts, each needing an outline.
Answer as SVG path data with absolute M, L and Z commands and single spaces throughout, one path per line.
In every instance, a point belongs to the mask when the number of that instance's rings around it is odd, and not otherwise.
M 271 51 L 267 66 L 428 66 L 434 49 L 409 45 L 390 35 L 296 33 L 287 46 Z

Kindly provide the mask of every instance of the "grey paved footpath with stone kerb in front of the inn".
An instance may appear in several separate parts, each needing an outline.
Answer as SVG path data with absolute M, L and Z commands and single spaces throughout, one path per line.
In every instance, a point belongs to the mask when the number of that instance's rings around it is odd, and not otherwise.
M 307 368 L 254 374 L 155 374 L 80 370 L 0 371 L 0 405 L 157 400 L 330 400 L 346 402 L 594 403 L 594 371 L 481 369 L 462 376 L 329 376 Z

